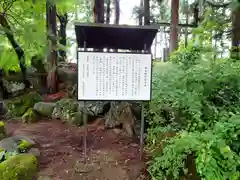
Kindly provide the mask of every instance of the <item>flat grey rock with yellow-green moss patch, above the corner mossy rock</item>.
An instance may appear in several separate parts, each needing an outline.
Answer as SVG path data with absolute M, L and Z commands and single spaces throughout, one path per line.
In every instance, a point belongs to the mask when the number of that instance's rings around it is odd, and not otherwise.
M 0 141 L 0 149 L 8 152 L 20 152 L 35 146 L 36 143 L 26 136 L 12 136 Z

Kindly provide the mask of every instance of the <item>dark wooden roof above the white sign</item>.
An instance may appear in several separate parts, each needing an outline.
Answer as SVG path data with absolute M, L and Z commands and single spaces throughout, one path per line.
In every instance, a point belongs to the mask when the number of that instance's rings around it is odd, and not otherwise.
M 111 24 L 75 23 L 79 48 L 110 48 L 124 50 L 147 50 L 158 32 L 159 26 L 129 26 Z

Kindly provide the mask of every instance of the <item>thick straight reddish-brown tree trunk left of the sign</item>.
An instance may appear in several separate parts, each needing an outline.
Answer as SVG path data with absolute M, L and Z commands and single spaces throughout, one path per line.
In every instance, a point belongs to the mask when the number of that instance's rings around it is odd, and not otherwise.
M 56 78 L 56 66 L 57 66 L 57 26 L 56 26 L 56 5 L 52 4 L 50 0 L 46 2 L 46 16 L 47 16 L 47 37 L 49 42 L 49 54 L 48 54 L 48 77 L 47 87 L 49 93 L 55 93 L 57 91 L 57 78 Z

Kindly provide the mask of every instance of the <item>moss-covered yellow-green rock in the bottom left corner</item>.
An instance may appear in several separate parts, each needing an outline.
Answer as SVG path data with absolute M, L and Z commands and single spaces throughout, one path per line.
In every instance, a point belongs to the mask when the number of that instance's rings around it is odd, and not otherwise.
M 32 180 L 37 175 L 38 163 L 32 154 L 19 154 L 0 163 L 1 180 Z

